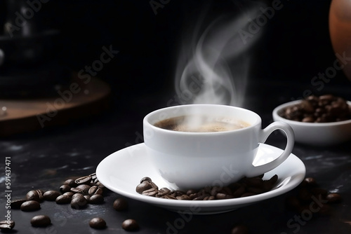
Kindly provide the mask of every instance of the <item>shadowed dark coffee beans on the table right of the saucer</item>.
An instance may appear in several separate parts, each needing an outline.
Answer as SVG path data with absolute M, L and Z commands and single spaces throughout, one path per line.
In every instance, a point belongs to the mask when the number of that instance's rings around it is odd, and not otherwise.
M 331 212 L 331 204 L 342 200 L 339 193 L 329 193 L 320 188 L 314 178 L 307 177 L 298 186 L 296 194 L 286 198 L 286 207 L 298 213 L 308 210 L 311 214 L 327 215 Z

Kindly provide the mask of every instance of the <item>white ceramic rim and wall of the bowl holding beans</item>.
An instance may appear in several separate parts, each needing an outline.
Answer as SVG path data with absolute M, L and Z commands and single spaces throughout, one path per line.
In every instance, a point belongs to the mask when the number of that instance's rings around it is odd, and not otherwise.
M 273 110 L 273 120 L 288 123 L 293 128 L 296 142 L 314 146 L 331 146 L 351 139 L 351 120 L 331 123 L 303 123 L 290 121 L 279 115 L 286 107 L 300 102 L 301 100 L 287 102 Z M 351 102 L 347 102 L 347 104 L 350 105 Z

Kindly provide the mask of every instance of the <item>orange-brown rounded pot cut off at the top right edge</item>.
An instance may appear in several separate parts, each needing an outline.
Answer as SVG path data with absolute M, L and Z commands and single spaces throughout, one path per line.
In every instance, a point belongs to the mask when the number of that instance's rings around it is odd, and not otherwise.
M 333 0 L 329 11 L 331 43 L 339 65 L 351 80 L 351 1 Z

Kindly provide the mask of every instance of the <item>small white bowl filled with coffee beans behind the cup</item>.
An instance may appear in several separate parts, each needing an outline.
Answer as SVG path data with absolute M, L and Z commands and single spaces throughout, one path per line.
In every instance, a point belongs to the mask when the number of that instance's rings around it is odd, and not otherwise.
M 277 106 L 274 121 L 288 123 L 295 141 L 331 146 L 351 139 L 351 102 L 336 95 L 310 96 Z

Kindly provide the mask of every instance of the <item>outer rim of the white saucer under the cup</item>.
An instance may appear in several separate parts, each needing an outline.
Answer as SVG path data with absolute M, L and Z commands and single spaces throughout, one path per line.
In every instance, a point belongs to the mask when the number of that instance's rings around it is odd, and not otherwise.
M 168 200 L 168 199 L 154 198 L 154 197 L 150 197 L 150 196 L 146 196 L 146 195 L 141 195 L 141 194 L 137 193 L 136 191 L 135 191 L 135 193 L 131 193 L 130 191 L 123 191 L 122 190 L 123 188 L 122 189 L 115 188 L 114 186 L 110 185 L 110 183 L 106 183 L 105 177 L 103 175 L 104 170 L 102 170 L 102 167 L 104 167 L 105 163 L 107 163 L 107 165 L 108 165 L 109 160 L 113 160 L 114 157 L 116 157 L 117 155 L 125 153 L 125 151 L 127 151 L 130 147 L 140 147 L 140 146 L 142 147 L 141 148 L 142 151 L 145 150 L 144 143 L 135 144 L 132 146 L 128 146 L 124 149 L 120 149 L 119 151 L 115 151 L 114 153 L 111 153 L 109 156 L 102 159 L 102 161 L 98 164 L 98 167 L 96 168 L 96 176 L 98 177 L 98 180 L 102 184 L 104 184 L 104 182 L 105 182 L 104 186 L 109 188 L 114 193 L 117 193 L 119 195 L 124 195 L 126 198 L 131 198 L 133 200 L 139 200 L 141 202 L 147 202 L 147 203 L 150 203 L 152 205 L 157 205 L 159 207 L 164 207 L 166 209 L 171 209 L 171 210 L 172 209 L 186 210 L 186 209 L 189 209 L 189 207 L 191 205 L 191 206 L 198 206 L 198 207 L 203 207 L 203 208 L 216 208 L 216 207 L 218 207 L 218 209 L 221 210 L 220 212 L 230 211 L 232 209 L 237 209 L 237 208 L 229 208 L 229 207 L 233 207 L 233 206 L 242 207 L 242 206 L 246 206 L 246 205 L 251 205 L 252 203 L 260 202 L 260 201 L 274 198 L 278 195 L 282 195 L 284 193 L 287 193 L 288 191 L 291 191 L 293 188 L 296 188 L 296 186 L 298 186 L 298 184 L 300 184 L 300 182 L 303 181 L 303 179 L 305 178 L 305 173 L 306 173 L 305 165 L 302 162 L 302 160 L 300 160 L 300 158 L 298 158 L 296 155 L 291 153 L 291 155 L 288 157 L 287 160 L 289 160 L 289 159 L 294 160 L 294 161 L 296 161 L 295 163 L 300 164 L 299 165 L 299 172 L 294 172 L 294 174 L 291 175 L 291 177 L 294 177 L 294 178 L 290 179 L 290 181 L 288 181 L 286 184 L 283 184 L 282 186 L 279 186 L 279 187 L 275 188 L 274 190 L 267 191 L 265 193 L 251 195 L 251 196 L 244 197 L 244 198 L 232 198 L 232 199 L 225 199 L 225 200 L 195 200 L 195 201 L 194 200 Z M 271 146 L 269 144 L 262 143 L 262 144 L 260 144 L 260 146 L 263 146 L 263 147 L 268 146 L 274 150 L 282 151 L 282 149 L 279 149 L 275 146 Z M 278 167 L 282 167 L 282 165 L 279 165 Z M 278 168 L 278 167 L 276 167 L 276 168 Z M 274 170 L 275 170 L 275 168 L 273 170 L 271 170 L 270 172 L 273 172 Z M 270 174 L 270 172 L 266 172 L 265 175 Z M 263 178 L 265 178 L 265 177 L 263 177 Z M 288 177 L 286 177 L 286 178 L 288 178 Z M 286 178 L 279 178 L 279 179 L 282 179 L 282 181 L 284 181 L 284 179 L 286 179 Z M 222 208 L 228 207 L 228 209 L 220 209 L 221 207 Z M 213 213 L 213 212 L 206 212 L 206 213 Z

